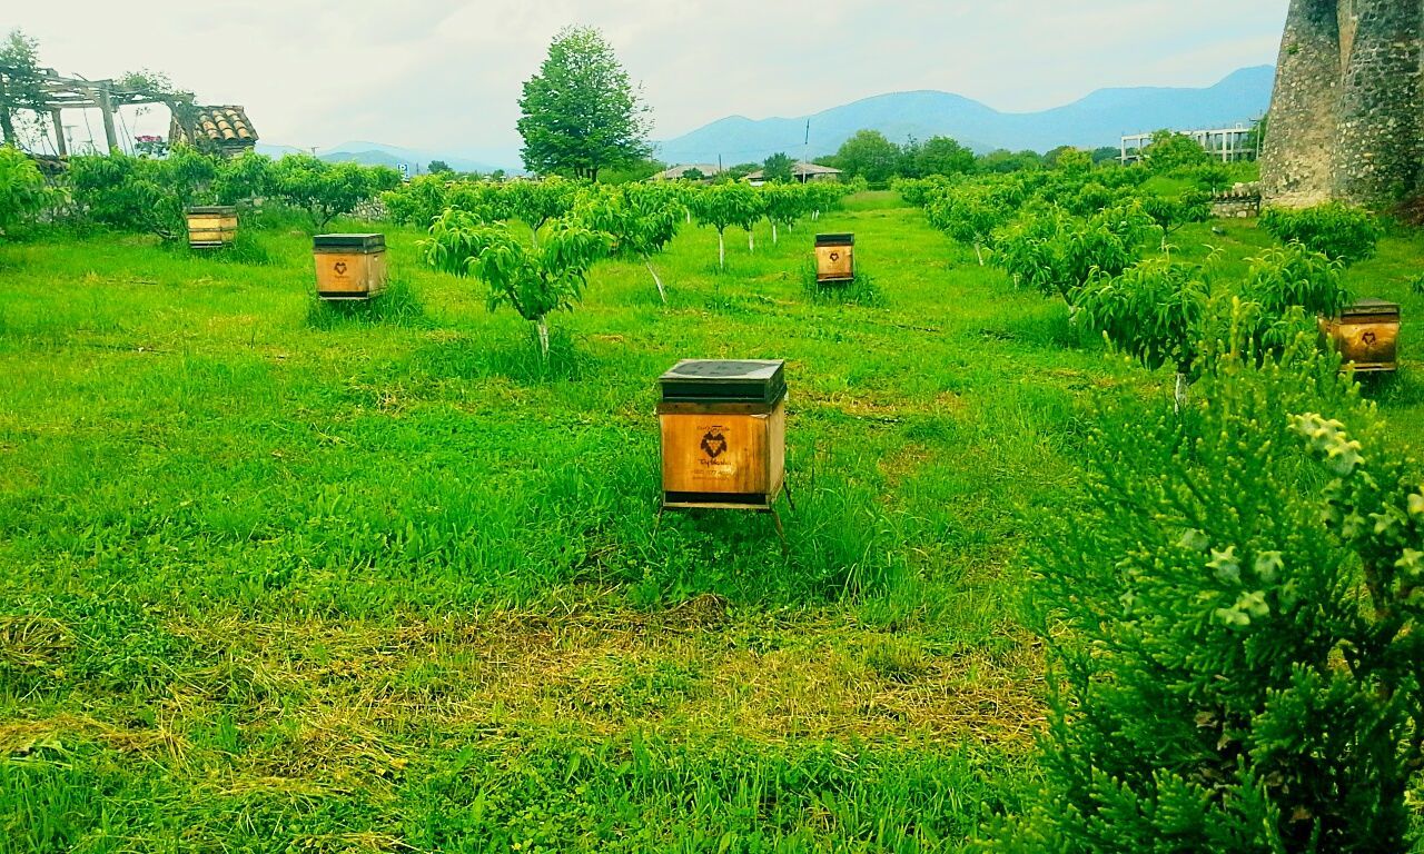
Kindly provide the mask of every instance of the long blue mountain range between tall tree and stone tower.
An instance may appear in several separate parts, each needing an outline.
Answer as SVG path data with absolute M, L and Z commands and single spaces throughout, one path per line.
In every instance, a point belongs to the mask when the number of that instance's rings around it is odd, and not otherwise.
M 1274 73 L 1270 65 L 1242 68 L 1208 88 L 1106 88 L 1041 112 L 1000 112 L 950 93 L 894 93 L 797 118 L 733 115 L 658 144 L 656 157 L 668 164 L 715 164 L 721 158 L 726 165 L 760 162 L 778 152 L 800 157 L 805 148 L 820 157 L 834 154 L 863 128 L 896 142 L 951 137 L 981 154 L 995 148 L 1098 148 L 1116 145 L 1124 134 L 1250 122 L 1270 107 Z

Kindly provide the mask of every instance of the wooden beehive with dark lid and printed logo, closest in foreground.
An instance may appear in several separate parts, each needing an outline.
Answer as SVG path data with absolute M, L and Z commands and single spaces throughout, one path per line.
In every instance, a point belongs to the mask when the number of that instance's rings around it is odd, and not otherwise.
M 786 478 L 785 366 L 689 359 L 658 377 L 665 508 L 772 508 Z

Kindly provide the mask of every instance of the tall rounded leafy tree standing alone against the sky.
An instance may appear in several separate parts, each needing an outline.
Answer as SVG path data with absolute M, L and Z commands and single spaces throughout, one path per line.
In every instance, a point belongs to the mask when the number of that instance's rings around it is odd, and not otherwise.
M 600 169 L 645 159 L 648 107 L 612 46 L 591 27 L 554 37 L 520 98 L 524 167 L 541 175 L 598 179 Z

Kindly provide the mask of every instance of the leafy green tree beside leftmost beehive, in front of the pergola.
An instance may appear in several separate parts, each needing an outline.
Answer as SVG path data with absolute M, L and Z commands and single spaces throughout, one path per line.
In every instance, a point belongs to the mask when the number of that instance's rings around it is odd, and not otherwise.
M 188 147 L 175 148 L 164 159 L 74 157 L 67 172 L 74 204 L 90 221 L 151 233 L 164 242 L 188 235 L 185 211 L 214 201 L 211 185 L 216 175 L 216 161 Z

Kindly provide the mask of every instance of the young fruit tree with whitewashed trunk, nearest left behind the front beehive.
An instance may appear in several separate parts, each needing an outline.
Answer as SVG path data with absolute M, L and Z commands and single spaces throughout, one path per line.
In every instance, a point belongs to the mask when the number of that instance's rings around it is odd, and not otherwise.
M 508 303 L 528 320 L 545 360 L 548 315 L 578 305 L 590 268 L 609 248 L 608 235 L 568 221 L 551 223 L 543 245 L 530 248 L 507 225 L 486 225 L 464 211 L 441 214 L 423 246 L 430 266 L 488 285 L 491 312 Z

